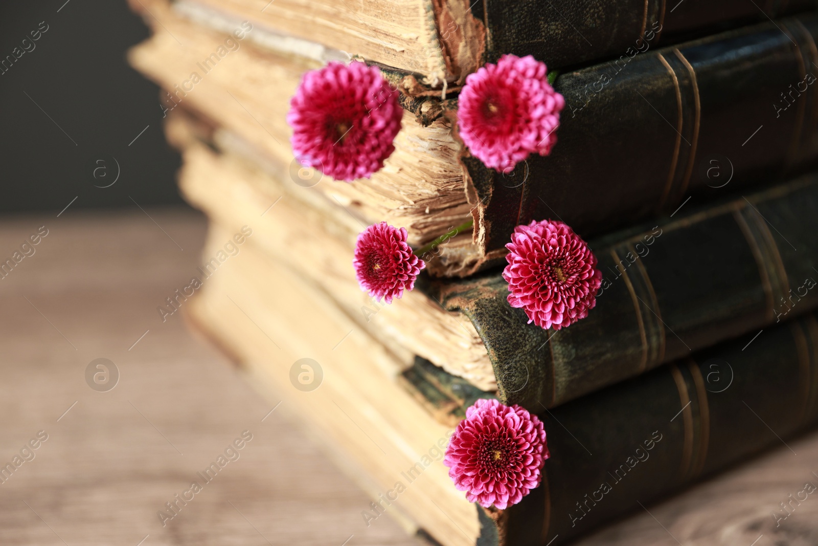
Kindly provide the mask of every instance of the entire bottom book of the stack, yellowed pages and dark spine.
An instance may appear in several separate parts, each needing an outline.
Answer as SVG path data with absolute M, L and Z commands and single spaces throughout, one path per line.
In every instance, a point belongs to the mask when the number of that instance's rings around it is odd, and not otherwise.
M 231 234 L 213 224 L 205 259 Z M 505 511 L 483 510 L 465 502 L 440 463 L 456 417 L 443 424 L 425 409 L 449 413 L 444 406 L 461 403 L 451 395 L 456 379 L 434 367 L 406 370 L 316 285 L 276 260 L 253 264 L 258 249 L 250 239 L 184 309 L 370 492 L 375 502 L 362 507 L 360 525 L 391 514 L 446 546 L 564 544 L 781 445 L 818 417 L 818 321 L 807 314 L 749 345 L 730 341 L 551 411 L 540 408 L 551 451 L 542 485 Z M 299 382 L 304 370 L 312 376 Z M 401 383 L 418 384 L 407 372 L 425 384 L 403 390 Z

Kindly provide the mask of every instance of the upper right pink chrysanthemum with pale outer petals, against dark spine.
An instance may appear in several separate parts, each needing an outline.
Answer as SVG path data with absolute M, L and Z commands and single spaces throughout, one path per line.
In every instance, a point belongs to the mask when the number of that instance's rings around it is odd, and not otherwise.
M 466 77 L 457 106 L 460 136 L 487 167 L 507 172 L 528 154 L 551 153 L 565 100 L 546 74 L 533 56 L 504 55 Z

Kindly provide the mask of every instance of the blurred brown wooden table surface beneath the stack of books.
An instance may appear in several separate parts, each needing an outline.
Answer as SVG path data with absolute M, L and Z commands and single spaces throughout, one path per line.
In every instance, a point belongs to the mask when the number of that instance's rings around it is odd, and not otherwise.
M 19 216 L 0 222 L 0 260 L 41 226 L 34 255 L 0 279 L 0 467 L 20 465 L 0 479 L 0 544 L 420 544 L 389 518 L 366 527 L 369 499 L 298 416 L 270 413 L 180 314 L 162 322 L 156 307 L 196 274 L 204 219 L 181 209 Z M 104 392 L 86 381 L 99 358 L 119 370 Z M 239 458 L 163 526 L 157 512 L 243 431 L 252 440 Z M 25 449 L 38 433 L 47 440 Z M 778 526 L 772 516 L 806 482 L 818 485 L 816 433 L 581 544 L 818 544 L 818 492 Z

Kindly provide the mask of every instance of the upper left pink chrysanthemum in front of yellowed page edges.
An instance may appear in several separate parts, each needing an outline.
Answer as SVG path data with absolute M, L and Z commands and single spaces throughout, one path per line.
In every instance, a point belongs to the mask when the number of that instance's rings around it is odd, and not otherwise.
M 302 165 L 336 180 L 369 178 L 394 151 L 403 110 L 375 66 L 332 61 L 303 75 L 287 123 Z

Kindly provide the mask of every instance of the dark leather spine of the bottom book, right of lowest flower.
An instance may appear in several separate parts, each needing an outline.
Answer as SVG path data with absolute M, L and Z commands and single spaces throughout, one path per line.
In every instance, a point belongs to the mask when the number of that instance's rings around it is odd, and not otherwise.
M 748 341 L 541 407 L 551 451 L 542 485 L 500 513 L 475 505 L 477 544 L 558 546 L 740 458 L 784 449 L 780 438 L 818 421 L 818 320 L 807 314 Z

